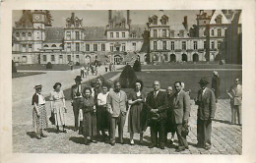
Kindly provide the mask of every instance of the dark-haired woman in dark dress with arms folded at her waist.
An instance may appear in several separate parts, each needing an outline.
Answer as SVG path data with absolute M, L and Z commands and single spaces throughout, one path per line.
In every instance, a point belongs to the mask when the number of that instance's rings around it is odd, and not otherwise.
M 129 96 L 128 103 L 131 105 L 128 117 L 128 133 L 130 133 L 130 143 L 134 144 L 133 136 L 140 134 L 140 143 L 143 142 L 143 132 L 146 130 L 146 109 L 144 103 L 146 94 L 142 91 L 143 81 L 135 82 L 135 91 Z

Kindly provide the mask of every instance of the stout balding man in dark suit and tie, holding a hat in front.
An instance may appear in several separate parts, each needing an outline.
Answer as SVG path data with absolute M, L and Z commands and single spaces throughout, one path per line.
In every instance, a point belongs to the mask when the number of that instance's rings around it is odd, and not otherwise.
M 160 142 L 160 148 L 164 149 L 165 142 L 165 125 L 166 125 L 166 108 L 164 107 L 164 99 L 166 93 L 160 91 L 160 81 L 154 81 L 154 91 L 149 92 L 146 105 L 150 111 L 149 126 L 151 127 L 150 148 L 157 147 Z M 160 137 L 158 138 L 158 134 Z

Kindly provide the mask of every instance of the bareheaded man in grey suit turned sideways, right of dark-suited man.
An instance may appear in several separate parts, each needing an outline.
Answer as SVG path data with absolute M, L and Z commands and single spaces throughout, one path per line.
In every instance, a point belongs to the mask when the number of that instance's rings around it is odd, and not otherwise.
M 182 89 L 180 81 L 174 83 L 176 92 L 173 94 L 173 112 L 176 124 L 176 134 L 178 137 L 178 146 L 176 151 L 188 149 L 186 136 L 188 133 L 184 131 L 188 128 L 188 118 L 190 114 L 190 97 Z M 184 134 L 185 133 L 185 134 Z

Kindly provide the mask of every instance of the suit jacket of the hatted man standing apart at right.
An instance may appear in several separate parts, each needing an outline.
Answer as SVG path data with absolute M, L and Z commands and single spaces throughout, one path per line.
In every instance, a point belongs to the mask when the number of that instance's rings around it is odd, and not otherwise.
M 205 93 L 202 95 L 202 89 L 198 91 L 198 105 L 197 117 L 200 120 L 209 120 L 215 117 L 216 112 L 216 98 L 212 89 L 206 87 Z

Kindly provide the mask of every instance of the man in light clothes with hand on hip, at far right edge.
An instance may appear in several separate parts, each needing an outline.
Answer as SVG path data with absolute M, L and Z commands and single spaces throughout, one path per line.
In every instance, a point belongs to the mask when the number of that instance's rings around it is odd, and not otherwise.
M 236 124 L 236 118 L 238 119 L 238 125 L 242 125 L 242 85 L 240 80 L 236 78 L 234 84 L 226 90 L 230 97 L 231 106 L 231 124 Z

